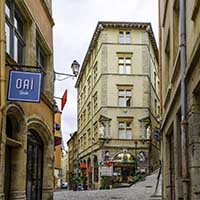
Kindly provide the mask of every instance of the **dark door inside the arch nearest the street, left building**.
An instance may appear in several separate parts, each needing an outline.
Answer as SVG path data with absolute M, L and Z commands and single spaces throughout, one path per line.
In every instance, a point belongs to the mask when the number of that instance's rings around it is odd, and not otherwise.
M 28 131 L 27 138 L 27 200 L 42 199 L 43 177 L 43 142 L 33 129 Z

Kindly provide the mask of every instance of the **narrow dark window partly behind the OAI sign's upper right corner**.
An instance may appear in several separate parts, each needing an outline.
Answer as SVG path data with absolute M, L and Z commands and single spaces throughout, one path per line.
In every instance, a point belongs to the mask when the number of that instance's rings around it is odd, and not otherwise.
M 46 55 L 44 53 L 43 48 L 40 45 L 40 42 L 36 42 L 36 64 L 41 67 L 42 70 L 42 84 L 41 89 L 44 92 L 45 88 L 45 75 L 46 75 Z

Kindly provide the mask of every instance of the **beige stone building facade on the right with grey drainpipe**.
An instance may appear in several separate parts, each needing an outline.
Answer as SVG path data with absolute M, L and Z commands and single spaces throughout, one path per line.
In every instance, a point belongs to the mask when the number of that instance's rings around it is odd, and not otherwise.
M 200 4 L 195 0 L 159 3 L 163 199 L 197 200 L 200 199 Z M 185 29 L 179 29 L 179 21 Z

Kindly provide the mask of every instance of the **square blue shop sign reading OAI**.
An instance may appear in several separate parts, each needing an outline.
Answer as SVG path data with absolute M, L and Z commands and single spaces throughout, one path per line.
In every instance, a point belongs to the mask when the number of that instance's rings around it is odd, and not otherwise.
M 40 72 L 10 71 L 9 101 L 40 102 Z

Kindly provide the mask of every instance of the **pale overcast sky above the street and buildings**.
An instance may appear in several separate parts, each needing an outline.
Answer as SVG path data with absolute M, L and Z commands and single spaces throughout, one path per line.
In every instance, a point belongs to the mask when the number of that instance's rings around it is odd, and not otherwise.
M 54 26 L 54 68 L 72 73 L 71 63 L 80 65 L 88 49 L 98 21 L 151 22 L 158 38 L 158 0 L 52 0 Z M 58 77 L 62 79 L 64 77 Z M 64 144 L 69 134 L 77 130 L 76 78 L 55 82 L 55 96 L 68 90 L 68 100 L 62 112 Z M 60 107 L 60 101 L 57 100 Z

